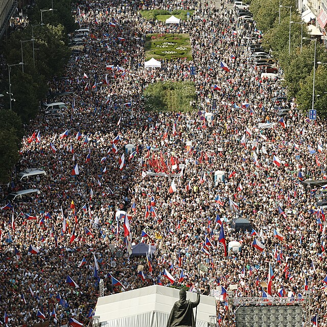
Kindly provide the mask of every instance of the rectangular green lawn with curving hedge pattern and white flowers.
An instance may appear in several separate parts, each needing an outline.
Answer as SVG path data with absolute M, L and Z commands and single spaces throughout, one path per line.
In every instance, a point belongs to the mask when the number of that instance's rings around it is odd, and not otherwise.
M 148 34 L 145 42 L 146 60 L 187 58 L 192 60 L 189 34 Z

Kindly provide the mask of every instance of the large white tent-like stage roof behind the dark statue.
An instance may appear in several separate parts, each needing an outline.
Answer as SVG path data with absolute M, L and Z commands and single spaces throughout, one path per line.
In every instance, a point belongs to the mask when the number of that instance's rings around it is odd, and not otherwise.
M 187 292 L 186 299 L 195 301 L 196 296 L 196 293 Z M 160 285 L 99 297 L 93 325 L 163 327 L 167 325 L 169 314 L 177 300 L 178 289 Z M 196 309 L 193 310 L 195 316 Z M 201 295 L 196 327 L 207 327 L 208 323 L 212 322 L 212 317 L 216 317 L 216 299 Z

